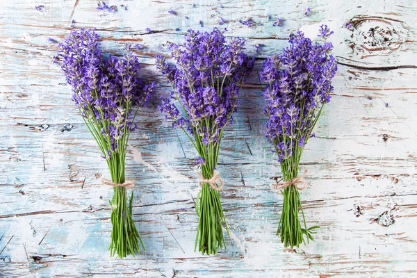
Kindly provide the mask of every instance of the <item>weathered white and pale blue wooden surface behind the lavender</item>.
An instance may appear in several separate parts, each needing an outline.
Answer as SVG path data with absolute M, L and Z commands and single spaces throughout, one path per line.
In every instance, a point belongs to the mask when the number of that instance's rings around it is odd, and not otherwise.
M 96 10 L 92 0 L 0 2 L 0 276 L 416 277 L 416 1 L 108 4 L 117 13 Z M 220 26 L 220 17 L 227 23 Z M 284 23 L 274 27 L 277 17 Z M 239 23 L 248 18 L 256 25 Z M 352 30 L 343 28 L 349 21 Z M 339 71 L 302 159 L 309 170 L 306 218 L 322 227 L 316 243 L 284 250 L 275 236 L 282 199 L 269 184 L 280 170 L 263 137 L 254 76 L 241 91 L 218 167 L 227 181 L 228 249 L 213 257 L 193 252 L 195 152 L 156 111 L 155 100 L 132 136 L 140 158 L 127 159 L 127 175 L 138 181 L 133 213 L 147 252 L 109 259 L 112 190 L 99 184 L 108 170 L 51 63 L 56 44 L 48 38 L 95 27 L 113 54 L 125 42 L 144 44 L 137 54 L 144 74 L 155 78 L 152 57 L 168 55 L 166 42 L 179 42 L 188 28 L 227 27 L 228 35 L 247 38 L 252 54 L 263 44 L 260 65 L 287 44 L 290 31 L 314 37 L 320 24 L 335 31 Z

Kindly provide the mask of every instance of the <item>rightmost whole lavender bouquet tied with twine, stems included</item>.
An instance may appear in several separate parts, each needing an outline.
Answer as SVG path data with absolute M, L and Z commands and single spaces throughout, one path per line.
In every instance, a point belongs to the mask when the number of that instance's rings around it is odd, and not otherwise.
M 267 58 L 261 72 L 261 81 L 268 84 L 263 90 L 268 116 L 265 136 L 274 146 L 271 150 L 277 153 L 284 180 L 275 188 L 284 195 L 277 235 L 280 233 L 285 247 L 305 244 L 304 235 L 309 243 L 313 230 L 319 228 L 306 227 L 299 193 L 306 183 L 298 172 L 304 147 L 334 90 L 336 59 L 330 54 L 332 43 L 326 42 L 332 33 L 327 26 L 321 26 L 319 36 L 325 40 L 322 44 L 311 42 L 301 32 L 291 35 L 290 46 L 282 54 Z

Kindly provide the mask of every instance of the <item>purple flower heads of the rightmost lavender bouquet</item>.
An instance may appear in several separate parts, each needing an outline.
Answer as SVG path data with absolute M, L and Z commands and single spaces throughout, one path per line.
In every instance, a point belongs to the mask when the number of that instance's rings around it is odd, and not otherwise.
M 320 29 L 325 38 L 332 33 L 327 26 Z M 265 60 L 261 72 L 261 80 L 268 83 L 263 90 L 269 119 L 265 136 L 280 162 L 306 145 L 322 106 L 330 101 L 337 71 L 330 42 L 313 43 L 301 32 L 289 42 L 282 54 Z

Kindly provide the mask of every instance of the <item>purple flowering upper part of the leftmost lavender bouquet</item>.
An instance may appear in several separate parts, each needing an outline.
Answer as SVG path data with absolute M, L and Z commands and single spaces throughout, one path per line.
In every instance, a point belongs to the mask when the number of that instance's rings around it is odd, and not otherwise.
M 146 104 L 156 88 L 137 77 L 140 65 L 132 47 L 126 44 L 124 51 L 122 58 L 104 59 L 98 35 L 81 28 L 58 44 L 56 55 L 72 99 L 108 159 L 126 152 L 124 135 L 135 129 L 135 108 Z

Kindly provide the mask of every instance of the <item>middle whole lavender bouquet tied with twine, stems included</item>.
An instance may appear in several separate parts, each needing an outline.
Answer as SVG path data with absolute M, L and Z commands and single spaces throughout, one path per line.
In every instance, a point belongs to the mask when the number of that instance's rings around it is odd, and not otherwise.
M 232 123 L 232 113 L 239 104 L 239 85 L 254 64 L 254 59 L 243 52 L 245 40 L 226 42 L 224 31 L 189 30 L 182 46 L 170 46 L 177 66 L 156 56 L 156 68 L 170 83 L 170 99 L 177 103 L 163 99 L 160 109 L 172 121 L 172 127 L 186 133 L 199 154 L 197 164 L 202 172 L 196 172 L 202 190 L 196 200 L 199 224 L 195 250 L 199 243 L 199 252 L 208 255 L 225 247 L 222 224 L 226 229 L 227 224 L 219 192 L 223 181 L 215 169 L 224 128 Z

